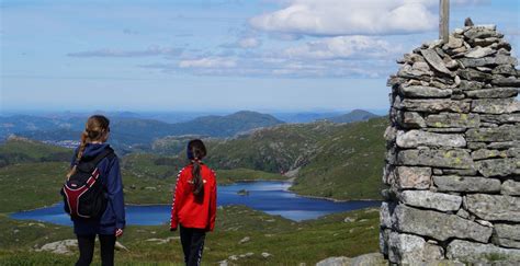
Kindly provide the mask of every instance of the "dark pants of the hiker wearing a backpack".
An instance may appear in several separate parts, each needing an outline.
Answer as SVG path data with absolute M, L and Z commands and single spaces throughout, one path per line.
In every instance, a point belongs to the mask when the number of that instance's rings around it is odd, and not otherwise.
M 79 247 L 79 259 L 76 263 L 76 266 L 90 265 L 90 263 L 92 263 L 92 256 L 94 255 L 95 234 L 77 234 L 77 236 Z M 99 239 L 101 245 L 101 265 L 114 265 L 115 235 L 99 234 Z

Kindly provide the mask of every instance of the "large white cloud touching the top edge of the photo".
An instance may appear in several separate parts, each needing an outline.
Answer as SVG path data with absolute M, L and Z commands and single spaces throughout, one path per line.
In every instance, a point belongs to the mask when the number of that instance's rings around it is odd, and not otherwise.
M 285 8 L 255 16 L 262 31 L 305 35 L 410 34 L 434 30 L 439 0 L 281 0 Z M 489 0 L 452 0 L 453 5 Z

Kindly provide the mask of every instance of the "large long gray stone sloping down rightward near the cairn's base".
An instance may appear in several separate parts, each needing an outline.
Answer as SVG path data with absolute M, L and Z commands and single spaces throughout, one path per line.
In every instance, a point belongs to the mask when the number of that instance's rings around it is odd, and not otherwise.
M 438 241 L 457 238 L 486 243 L 493 232 L 491 228 L 483 227 L 456 215 L 420 210 L 404 205 L 395 208 L 392 223 L 399 232 L 425 235 Z

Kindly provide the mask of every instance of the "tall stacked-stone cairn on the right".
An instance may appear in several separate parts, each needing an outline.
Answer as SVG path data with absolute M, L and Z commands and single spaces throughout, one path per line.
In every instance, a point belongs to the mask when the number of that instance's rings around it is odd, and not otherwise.
M 470 21 L 397 61 L 380 235 L 391 263 L 520 262 L 520 70 L 510 51 L 495 25 Z

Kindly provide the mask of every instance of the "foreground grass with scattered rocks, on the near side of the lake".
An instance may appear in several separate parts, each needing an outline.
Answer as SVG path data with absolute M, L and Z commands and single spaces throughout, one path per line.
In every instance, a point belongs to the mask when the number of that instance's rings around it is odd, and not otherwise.
M 346 218 L 352 221 L 346 222 Z M 63 265 L 77 257 L 35 252 L 45 243 L 74 239 L 72 229 L 48 223 L 16 221 L 0 215 L 1 265 Z M 238 265 L 315 264 L 330 256 L 357 256 L 377 251 L 378 213 L 375 209 L 335 213 L 317 220 L 293 222 L 242 206 L 219 208 L 217 224 L 207 234 L 204 263 L 228 259 Z M 180 265 L 182 250 L 178 232 L 168 227 L 128 227 L 120 242 L 129 251 L 116 253 L 118 265 Z M 152 239 L 167 240 L 159 243 Z M 240 243 L 245 238 L 250 240 Z M 248 253 L 250 256 L 240 257 Z M 269 253 L 264 258 L 261 254 Z M 229 259 L 236 255 L 237 261 Z M 98 254 L 94 259 L 99 259 Z

